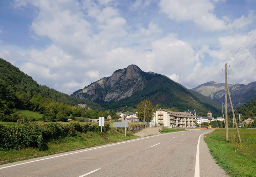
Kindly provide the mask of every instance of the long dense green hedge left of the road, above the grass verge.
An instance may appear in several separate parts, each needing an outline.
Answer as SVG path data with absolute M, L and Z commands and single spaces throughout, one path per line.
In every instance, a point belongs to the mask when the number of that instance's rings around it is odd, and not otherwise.
M 45 123 L 37 124 L 18 120 L 16 126 L 0 125 L 0 150 L 22 149 L 34 147 L 43 150 L 46 143 L 52 139 L 59 139 L 68 136 L 77 136 L 78 132 L 98 132 L 101 131 L 97 123 L 71 121 L 68 124 Z M 105 122 L 102 127 L 103 132 L 110 129 L 110 124 Z

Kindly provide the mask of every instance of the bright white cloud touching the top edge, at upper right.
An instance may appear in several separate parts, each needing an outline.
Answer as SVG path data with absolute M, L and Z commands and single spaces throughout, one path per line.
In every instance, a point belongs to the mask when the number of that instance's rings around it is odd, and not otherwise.
M 176 21 L 192 20 L 202 30 L 228 30 L 233 28 L 244 28 L 252 23 L 253 12 L 248 17 L 241 16 L 233 22 L 226 16 L 219 19 L 214 11 L 214 4 L 209 1 L 169 1 L 161 0 L 159 3 L 161 12 L 166 13 L 170 19 Z

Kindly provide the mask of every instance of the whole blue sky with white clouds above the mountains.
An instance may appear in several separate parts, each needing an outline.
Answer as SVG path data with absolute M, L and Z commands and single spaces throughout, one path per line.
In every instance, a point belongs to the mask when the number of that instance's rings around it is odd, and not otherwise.
M 256 1 L 0 1 L 0 57 L 68 94 L 130 64 L 191 89 L 231 59 L 229 83 L 248 84 L 255 27 Z

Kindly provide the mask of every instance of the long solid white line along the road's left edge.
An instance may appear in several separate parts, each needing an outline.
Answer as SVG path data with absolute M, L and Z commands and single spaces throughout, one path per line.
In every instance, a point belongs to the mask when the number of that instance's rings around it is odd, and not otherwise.
M 171 133 L 179 133 L 179 132 L 171 132 Z M 29 162 L 24 162 L 24 163 L 21 163 L 21 164 L 15 164 L 15 165 L 10 165 L 10 166 L 1 167 L 0 170 L 1 170 L 1 169 L 5 169 L 5 168 L 9 168 L 9 167 L 13 167 L 13 166 L 18 166 L 18 165 L 23 165 L 23 164 L 29 164 L 29 163 L 37 162 L 37 161 L 41 161 L 41 160 L 53 159 L 53 158 L 57 158 L 57 157 L 65 156 L 65 155 L 71 155 L 71 154 L 81 153 L 81 152 L 85 152 L 85 151 L 89 151 L 89 150 L 105 148 L 105 147 L 112 146 L 112 145 L 123 144 L 123 143 L 132 142 L 132 141 L 138 141 L 138 140 L 140 140 L 140 139 L 146 139 L 146 138 L 151 138 L 151 137 L 155 137 L 155 136 L 162 136 L 162 135 L 168 135 L 168 134 L 170 134 L 170 133 L 163 133 L 163 134 L 160 134 L 160 135 L 148 136 L 148 137 L 145 137 L 145 138 L 138 138 L 138 139 L 133 139 L 133 140 L 130 140 L 130 141 L 124 141 L 124 142 L 121 142 L 121 143 L 110 144 L 110 145 L 105 145 L 105 146 L 101 146 L 101 147 L 97 147 L 97 148 L 81 150 L 81 151 L 74 152 L 74 153 L 63 154 L 63 155 L 58 155 L 58 156 L 53 156 L 53 157 L 49 157 L 49 158 L 45 158 L 45 159 L 33 160 L 33 161 L 29 161 Z

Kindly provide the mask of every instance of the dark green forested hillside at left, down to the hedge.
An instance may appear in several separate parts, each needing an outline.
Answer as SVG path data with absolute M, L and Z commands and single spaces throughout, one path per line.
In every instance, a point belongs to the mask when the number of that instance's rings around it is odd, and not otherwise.
M 86 108 L 103 110 L 94 102 L 71 97 L 47 86 L 41 86 L 31 76 L 21 72 L 17 67 L 0 58 L 0 116 L 11 115 L 16 108 L 29 109 L 49 119 L 56 119 L 56 115 L 70 115 L 78 104 Z M 73 110 L 73 111 L 72 111 Z M 15 115 L 13 115 L 15 117 Z M 81 116 L 80 114 L 77 116 Z

